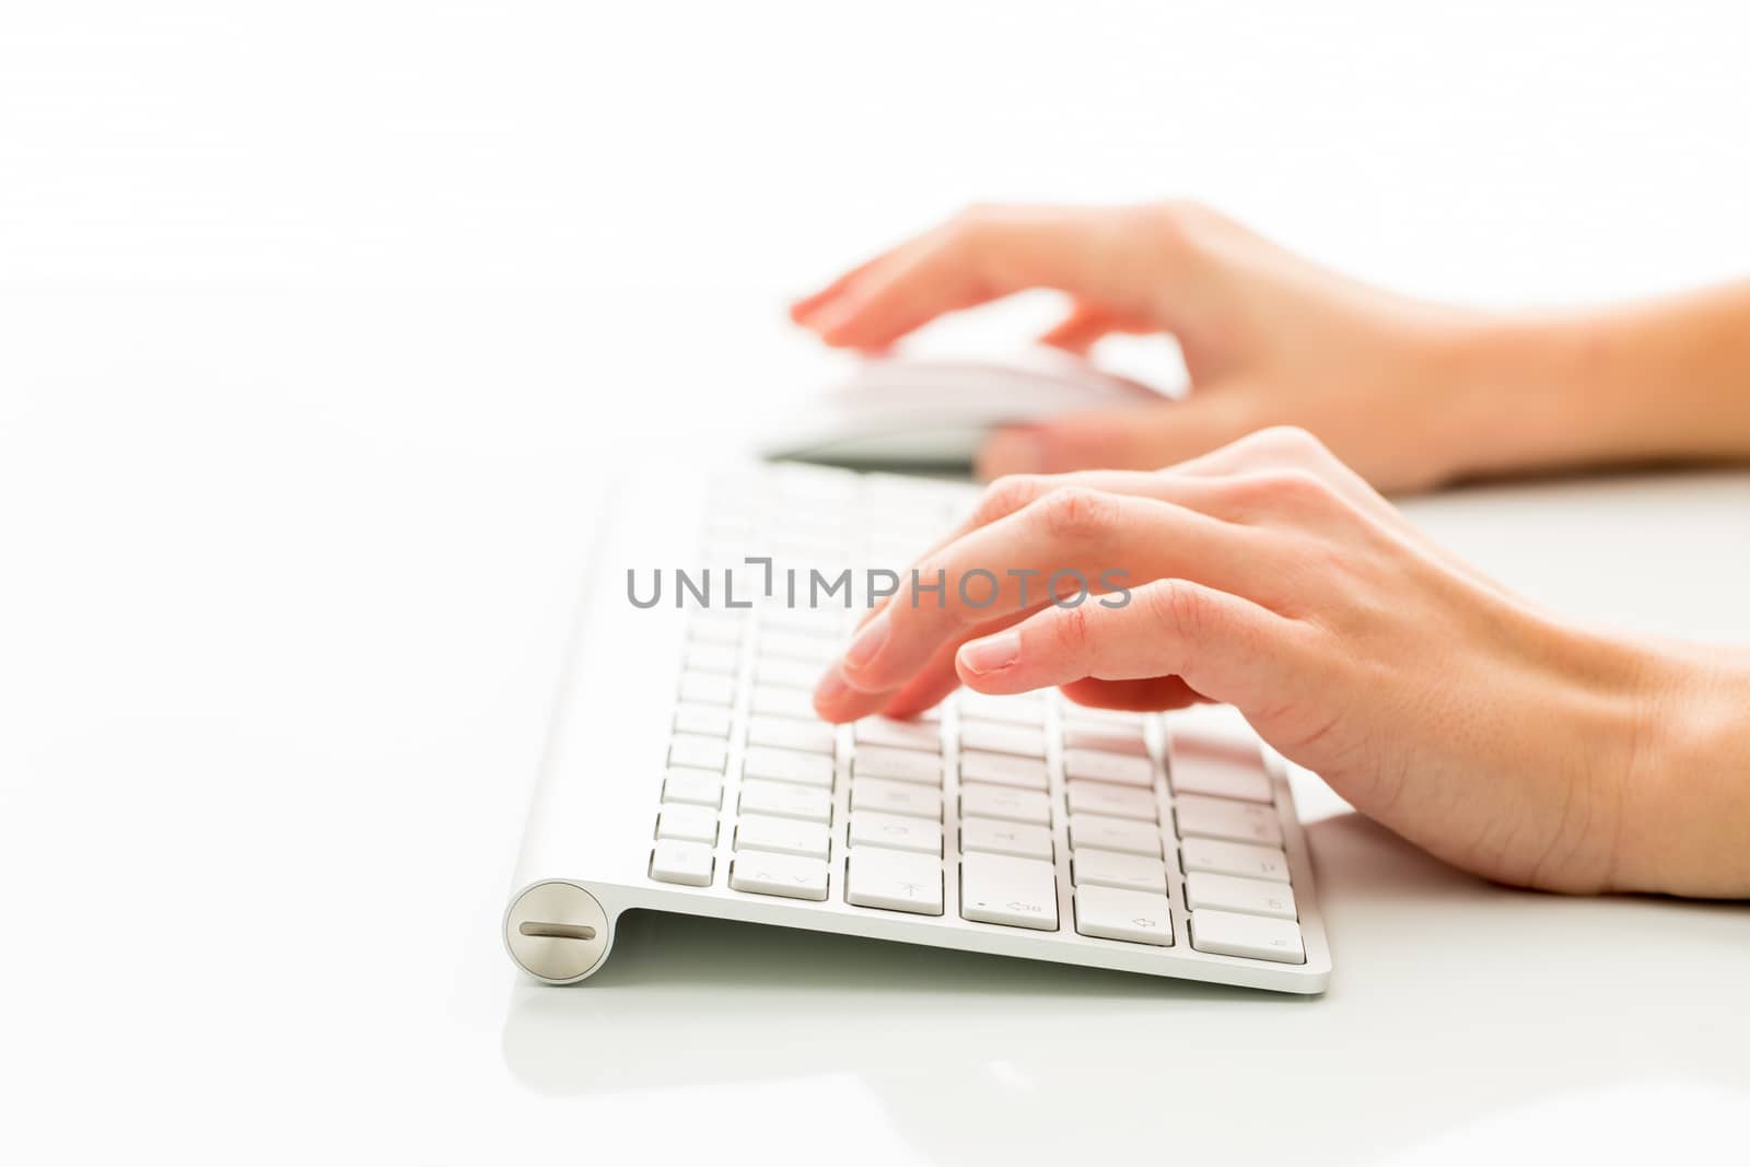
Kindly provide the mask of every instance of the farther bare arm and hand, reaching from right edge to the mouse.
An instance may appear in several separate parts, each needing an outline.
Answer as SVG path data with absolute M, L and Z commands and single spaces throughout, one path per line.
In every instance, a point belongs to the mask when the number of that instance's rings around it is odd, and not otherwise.
M 1318 434 L 1381 490 L 1657 458 L 1750 458 L 1750 283 L 1624 308 L 1486 315 L 1326 271 L 1186 203 L 976 208 L 794 304 L 880 348 L 1018 292 L 1069 296 L 1043 339 L 1166 332 L 1192 395 L 1017 427 L 987 478 L 1157 469 L 1267 425 Z

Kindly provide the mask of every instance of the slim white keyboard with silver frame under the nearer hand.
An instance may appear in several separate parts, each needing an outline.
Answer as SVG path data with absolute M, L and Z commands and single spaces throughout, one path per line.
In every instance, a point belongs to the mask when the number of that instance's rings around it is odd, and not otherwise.
M 810 607 L 808 572 L 903 570 L 975 488 L 814 467 L 665 486 L 621 495 L 640 506 L 616 509 L 586 593 L 506 913 L 527 971 L 583 980 L 621 912 L 656 908 L 1325 989 L 1286 777 L 1232 710 L 961 691 L 917 721 L 814 716 L 863 609 L 844 590 Z M 676 565 L 695 583 L 684 602 L 670 586 L 635 607 Z M 724 605 L 732 569 L 751 607 Z

